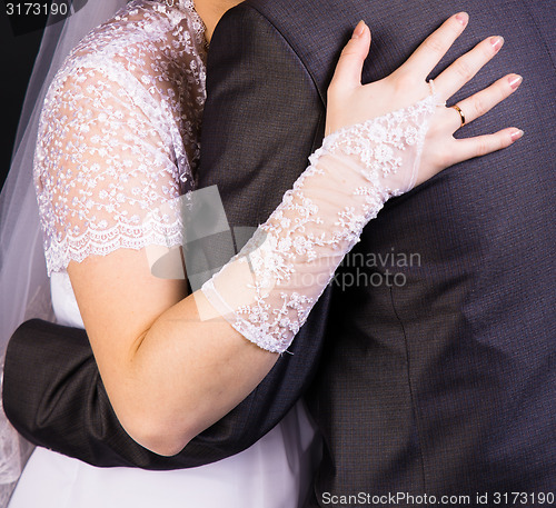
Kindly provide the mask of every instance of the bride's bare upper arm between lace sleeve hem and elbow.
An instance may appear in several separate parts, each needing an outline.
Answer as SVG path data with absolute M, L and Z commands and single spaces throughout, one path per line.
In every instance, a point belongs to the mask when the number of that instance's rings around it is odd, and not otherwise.
M 186 297 L 185 283 L 152 276 L 145 249 L 71 261 L 68 272 L 102 380 L 117 397 L 122 367 L 153 321 Z

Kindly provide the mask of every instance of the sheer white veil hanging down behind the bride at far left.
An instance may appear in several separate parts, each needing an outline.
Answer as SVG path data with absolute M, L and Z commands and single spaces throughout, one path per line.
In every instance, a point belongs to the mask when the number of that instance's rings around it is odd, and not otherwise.
M 90 0 L 72 16 L 44 30 L 26 94 L 10 171 L 0 195 L 0 379 L 8 340 L 19 325 L 30 318 L 53 319 L 32 182 L 34 145 L 44 94 L 71 49 L 126 3 L 127 0 Z M 0 508 L 8 505 L 30 449 L 7 420 L 0 399 Z

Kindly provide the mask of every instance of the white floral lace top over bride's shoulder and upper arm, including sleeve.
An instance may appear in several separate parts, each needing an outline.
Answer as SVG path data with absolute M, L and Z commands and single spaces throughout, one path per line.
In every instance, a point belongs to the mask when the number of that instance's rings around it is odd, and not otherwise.
M 205 27 L 191 0 L 135 0 L 71 52 L 47 93 L 34 183 L 49 273 L 118 248 L 181 243 L 160 211 L 193 185 Z

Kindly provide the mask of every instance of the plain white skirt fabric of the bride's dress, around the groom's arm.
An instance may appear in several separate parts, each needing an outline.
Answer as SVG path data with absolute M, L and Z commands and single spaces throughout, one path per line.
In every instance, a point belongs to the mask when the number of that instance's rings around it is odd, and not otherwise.
M 54 273 L 51 289 L 58 321 L 82 327 L 68 276 Z M 37 448 L 9 508 L 296 508 L 310 484 L 314 441 L 299 402 L 247 450 L 192 469 L 97 468 Z

